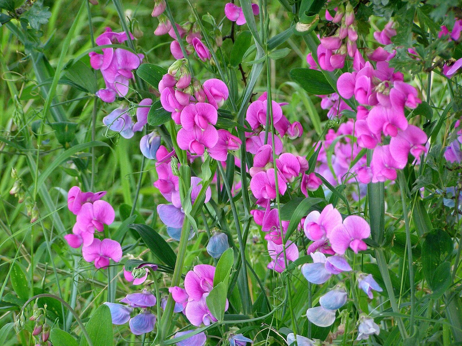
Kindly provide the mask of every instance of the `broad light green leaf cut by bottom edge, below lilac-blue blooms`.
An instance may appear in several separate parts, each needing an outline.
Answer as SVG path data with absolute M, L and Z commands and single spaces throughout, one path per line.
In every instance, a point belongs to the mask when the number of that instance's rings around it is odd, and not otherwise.
M 109 306 L 101 304 L 91 315 L 85 325 L 93 346 L 114 345 L 114 333 L 112 331 L 112 318 Z M 85 336 L 80 339 L 80 346 L 88 346 Z

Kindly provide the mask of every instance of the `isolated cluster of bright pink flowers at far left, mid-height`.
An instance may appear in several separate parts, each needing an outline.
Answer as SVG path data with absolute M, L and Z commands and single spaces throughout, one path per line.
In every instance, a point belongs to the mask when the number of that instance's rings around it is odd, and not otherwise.
M 115 218 L 112 206 L 102 201 L 106 191 L 82 192 L 73 186 L 67 194 L 67 207 L 77 215 L 72 233 L 64 236 L 67 244 L 73 248 L 82 246 L 82 255 L 87 262 L 95 262 L 96 268 L 109 266 L 109 259 L 119 262 L 122 259 L 122 247 L 115 240 L 95 238 L 95 231 L 103 232 L 104 225 L 110 225 Z

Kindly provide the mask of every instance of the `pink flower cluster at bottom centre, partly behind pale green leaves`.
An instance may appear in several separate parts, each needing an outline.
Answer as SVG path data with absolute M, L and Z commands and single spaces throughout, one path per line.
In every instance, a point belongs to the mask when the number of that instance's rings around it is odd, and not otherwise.
M 194 266 L 184 278 L 184 288 L 174 286 L 169 288 L 173 299 L 181 304 L 182 312 L 192 325 L 199 327 L 201 324 L 208 326 L 217 319 L 210 312 L 206 297 L 213 288 L 215 267 L 208 264 Z M 225 311 L 228 310 L 226 299 Z

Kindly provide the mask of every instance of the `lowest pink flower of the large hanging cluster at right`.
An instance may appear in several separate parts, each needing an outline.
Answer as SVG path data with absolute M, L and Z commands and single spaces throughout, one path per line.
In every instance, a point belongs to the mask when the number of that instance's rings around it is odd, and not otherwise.
M 377 146 L 372 153 L 372 182 L 377 181 L 395 180 L 396 170 L 395 168 L 402 169 L 406 166 L 404 163 L 396 161 L 390 153 L 389 145 Z

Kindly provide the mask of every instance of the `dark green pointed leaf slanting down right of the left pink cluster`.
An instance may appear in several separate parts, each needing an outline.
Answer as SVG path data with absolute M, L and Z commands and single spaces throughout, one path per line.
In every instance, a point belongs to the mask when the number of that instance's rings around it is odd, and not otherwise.
M 144 224 L 131 224 L 128 227 L 133 228 L 140 234 L 141 239 L 146 243 L 149 250 L 152 251 L 159 260 L 171 268 L 175 268 L 176 255 L 162 236 L 154 231 L 151 227 Z

